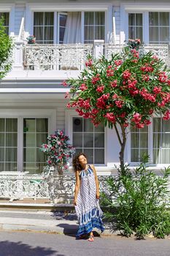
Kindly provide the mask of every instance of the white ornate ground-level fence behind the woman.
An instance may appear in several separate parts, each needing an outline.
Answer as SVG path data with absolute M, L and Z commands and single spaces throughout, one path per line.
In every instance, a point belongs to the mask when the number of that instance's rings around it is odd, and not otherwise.
M 107 176 L 98 176 L 101 191 L 106 191 Z M 1 175 L 0 198 L 61 198 L 69 202 L 74 198 L 74 175 Z

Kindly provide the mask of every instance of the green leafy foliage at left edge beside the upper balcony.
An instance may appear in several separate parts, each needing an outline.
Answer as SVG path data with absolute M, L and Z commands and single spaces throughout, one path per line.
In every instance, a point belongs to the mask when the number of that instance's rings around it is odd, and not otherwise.
M 12 61 L 9 58 L 12 56 L 12 39 L 6 34 L 3 26 L 3 18 L 0 20 L 0 79 L 7 75 L 11 69 Z

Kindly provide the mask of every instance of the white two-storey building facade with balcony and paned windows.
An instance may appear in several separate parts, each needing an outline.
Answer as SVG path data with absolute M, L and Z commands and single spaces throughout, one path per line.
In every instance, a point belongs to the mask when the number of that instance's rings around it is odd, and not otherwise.
M 68 110 L 64 95 L 69 89 L 61 83 L 79 75 L 88 53 L 95 49 L 97 55 L 103 46 L 107 51 L 128 38 L 140 38 L 168 58 L 163 45 L 170 40 L 170 2 L 1 0 L 0 12 L 15 41 L 12 71 L 0 86 L 0 171 L 41 173 L 45 157 L 39 146 L 57 129 L 69 135 L 77 152 L 88 154 L 98 171 L 112 170 L 120 151 L 115 131 L 94 129 Z M 36 37 L 35 45 L 27 45 L 29 34 Z M 170 121 L 153 118 L 148 130 L 128 133 L 125 161 L 135 165 L 144 151 L 151 165 L 169 164 Z

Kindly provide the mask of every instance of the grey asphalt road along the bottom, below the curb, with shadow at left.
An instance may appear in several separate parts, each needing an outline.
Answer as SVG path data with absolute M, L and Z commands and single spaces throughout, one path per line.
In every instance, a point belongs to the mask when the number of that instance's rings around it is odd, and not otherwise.
M 117 236 L 95 241 L 50 233 L 0 232 L 0 256 L 170 256 L 170 239 L 136 241 Z

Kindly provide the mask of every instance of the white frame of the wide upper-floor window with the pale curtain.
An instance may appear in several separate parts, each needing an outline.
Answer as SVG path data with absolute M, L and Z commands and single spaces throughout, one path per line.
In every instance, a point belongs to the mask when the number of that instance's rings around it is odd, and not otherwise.
M 112 31 L 112 4 L 98 3 L 94 6 L 93 3 L 79 4 L 79 3 L 66 3 L 61 4 L 26 4 L 26 31 L 33 34 L 34 27 L 34 12 L 55 12 L 54 20 L 54 43 L 58 43 L 57 30 L 58 30 L 58 13 L 60 12 L 82 12 L 82 43 L 84 42 L 84 12 L 105 12 L 105 41 L 109 42 L 108 34 Z M 31 20 L 31 22 L 30 22 Z

